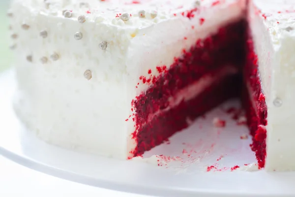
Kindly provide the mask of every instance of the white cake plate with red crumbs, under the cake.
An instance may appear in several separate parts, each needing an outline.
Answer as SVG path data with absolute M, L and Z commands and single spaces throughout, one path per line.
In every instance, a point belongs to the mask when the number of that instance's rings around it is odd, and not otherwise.
M 223 104 L 147 152 L 144 158 L 149 159 L 121 161 L 66 150 L 34 137 L 14 114 L 14 90 L 13 71 L 0 75 L 0 154 L 31 169 L 91 186 L 152 196 L 295 196 L 295 172 L 244 171 L 255 168 L 251 139 L 240 139 L 247 128 L 237 126 L 223 110 L 238 106 L 237 101 Z M 227 126 L 214 128 L 214 117 L 226 120 Z M 236 165 L 240 167 L 235 169 Z

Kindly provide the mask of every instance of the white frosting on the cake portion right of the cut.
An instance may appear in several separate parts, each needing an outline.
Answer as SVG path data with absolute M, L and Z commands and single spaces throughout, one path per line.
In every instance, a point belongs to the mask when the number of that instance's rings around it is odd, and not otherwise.
M 295 1 L 252 0 L 249 13 L 268 107 L 265 168 L 295 170 Z

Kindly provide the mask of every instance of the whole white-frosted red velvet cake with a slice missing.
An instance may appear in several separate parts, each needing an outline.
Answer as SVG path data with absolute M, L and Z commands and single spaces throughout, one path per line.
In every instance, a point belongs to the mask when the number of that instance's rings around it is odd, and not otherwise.
M 292 0 L 14 0 L 15 110 L 55 145 L 141 156 L 239 97 L 266 170 L 294 170 Z

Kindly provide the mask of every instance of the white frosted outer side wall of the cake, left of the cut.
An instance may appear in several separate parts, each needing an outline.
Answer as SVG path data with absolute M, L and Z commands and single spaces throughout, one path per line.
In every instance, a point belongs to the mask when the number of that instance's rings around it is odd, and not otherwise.
M 17 33 L 16 111 L 47 142 L 126 158 L 129 31 L 49 16 L 27 2 L 15 1 L 11 8 L 12 33 Z M 74 37 L 77 32 L 82 36 Z

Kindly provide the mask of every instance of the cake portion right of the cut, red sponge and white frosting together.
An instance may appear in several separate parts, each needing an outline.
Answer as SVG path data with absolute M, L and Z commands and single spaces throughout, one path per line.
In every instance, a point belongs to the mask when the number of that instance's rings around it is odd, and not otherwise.
M 250 0 L 248 6 L 244 79 L 252 150 L 267 170 L 294 170 L 295 1 Z

